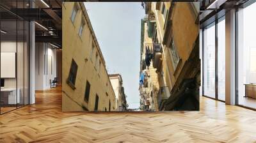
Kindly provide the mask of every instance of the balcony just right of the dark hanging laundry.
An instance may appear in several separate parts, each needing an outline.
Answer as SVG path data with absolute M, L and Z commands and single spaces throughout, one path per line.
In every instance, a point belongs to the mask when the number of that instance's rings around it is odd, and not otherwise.
M 153 46 L 153 67 L 160 70 L 162 64 L 162 47 L 159 43 L 154 43 Z

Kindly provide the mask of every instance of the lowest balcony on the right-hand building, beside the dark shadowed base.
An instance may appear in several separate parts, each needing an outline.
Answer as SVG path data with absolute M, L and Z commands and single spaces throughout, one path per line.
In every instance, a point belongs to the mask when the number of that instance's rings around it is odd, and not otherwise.
M 170 90 L 168 86 L 163 86 L 159 88 L 158 95 L 157 95 L 157 102 L 159 106 L 159 110 L 161 106 L 163 106 L 163 102 L 170 97 Z

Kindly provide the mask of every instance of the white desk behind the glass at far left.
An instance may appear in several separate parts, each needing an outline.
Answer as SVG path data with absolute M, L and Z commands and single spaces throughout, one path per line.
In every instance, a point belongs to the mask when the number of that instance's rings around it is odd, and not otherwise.
M 4 104 L 17 104 L 20 103 L 20 89 L 17 89 L 16 98 L 16 88 L 4 88 L 1 89 L 1 102 Z

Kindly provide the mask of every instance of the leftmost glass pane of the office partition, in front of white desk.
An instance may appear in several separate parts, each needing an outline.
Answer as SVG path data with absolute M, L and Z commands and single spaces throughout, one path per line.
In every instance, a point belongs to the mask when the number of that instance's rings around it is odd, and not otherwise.
M 17 21 L 1 21 L 1 113 L 17 108 Z

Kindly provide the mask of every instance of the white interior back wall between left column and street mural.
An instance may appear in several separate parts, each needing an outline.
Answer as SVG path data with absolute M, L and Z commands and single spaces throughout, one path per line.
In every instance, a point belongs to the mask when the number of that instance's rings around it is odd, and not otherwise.
M 49 89 L 50 80 L 57 75 L 56 49 L 49 43 L 36 43 L 35 47 L 35 90 Z

